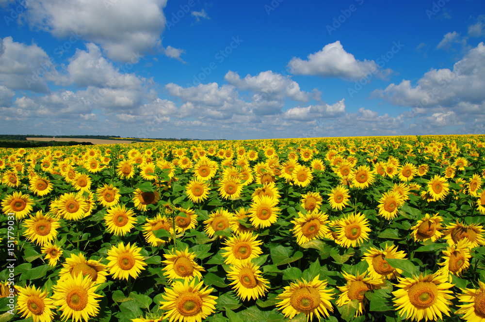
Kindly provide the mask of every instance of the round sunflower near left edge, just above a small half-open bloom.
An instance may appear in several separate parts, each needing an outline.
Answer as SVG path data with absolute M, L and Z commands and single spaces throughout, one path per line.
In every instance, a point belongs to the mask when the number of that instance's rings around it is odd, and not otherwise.
M 30 219 L 26 219 L 22 225 L 27 228 L 23 235 L 27 236 L 28 240 L 42 246 L 45 243 L 52 242 L 57 237 L 57 229 L 60 225 L 55 217 L 52 217 L 49 213 L 43 215 L 42 211 L 38 211 L 35 216 L 29 216 Z

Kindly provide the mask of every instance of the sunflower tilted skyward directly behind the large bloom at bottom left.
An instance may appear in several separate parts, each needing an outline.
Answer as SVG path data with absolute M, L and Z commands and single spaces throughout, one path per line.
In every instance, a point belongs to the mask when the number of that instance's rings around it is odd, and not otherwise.
M 79 255 L 71 254 L 69 258 L 65 259 L 63 263 L 64 268 L 61 269 L 59 276 L 64 279 L 66 276 L 76 276 L 81 273 L 81 275 L 89 276 L 94 284 L 101 284 L 106 282 L 106 265 L 101 264 L 100 261 L 86 260 L 84 255 L 79 253 Z

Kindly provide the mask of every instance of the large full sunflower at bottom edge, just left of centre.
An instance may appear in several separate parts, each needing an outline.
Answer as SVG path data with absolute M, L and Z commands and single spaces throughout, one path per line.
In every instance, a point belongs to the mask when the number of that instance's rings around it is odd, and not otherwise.
M 169 322 L 201 322 L 215 310 L 217 296 L 210 293 L 214 289 L 208 289 L 208 286 L 202 288 L 203 282 L 195 284 L 195 278 L 191 281 L 175 282 L 171 287 L 165 288 L 160 301 L 161 309 L 168 310 L 164 319 Z M 202 289 L 201 289 L 202 288 Z

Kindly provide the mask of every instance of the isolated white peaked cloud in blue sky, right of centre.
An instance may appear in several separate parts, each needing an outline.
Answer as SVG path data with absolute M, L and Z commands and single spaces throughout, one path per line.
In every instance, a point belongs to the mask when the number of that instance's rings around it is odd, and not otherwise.
M 292 58 L 288 67 L 296 75 L 314 75 L 320 77 L 341 77 L 356 79 L 366 77 L 369 73 L 377 77 L 386 77 L 391 70 L 381 70 L 375 61 L 359 61 L 354 55 L 346 52 L 340 41 L 328 44 L 322 50 L 309 54 L 307 60 Z

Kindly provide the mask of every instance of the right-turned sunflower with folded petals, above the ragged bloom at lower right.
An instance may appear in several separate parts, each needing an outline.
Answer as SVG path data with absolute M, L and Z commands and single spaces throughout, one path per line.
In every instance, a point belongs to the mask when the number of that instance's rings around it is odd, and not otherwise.
M 401 273 L 403 273 L 402 269 L 394 268 L 386 261 L 387 258 L 405 259 L 406 253 L 398 251 L 397 246 L 386 245 L 384 249 L 371 247 L 367 250 L 367 253 L 364 253 L 364 256 L 362 261 L 365 260 L 369 264 L 367 270 L 372 278 L 393 279 L 401 276 Z

